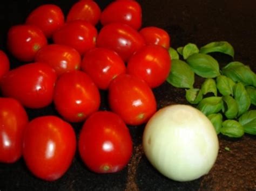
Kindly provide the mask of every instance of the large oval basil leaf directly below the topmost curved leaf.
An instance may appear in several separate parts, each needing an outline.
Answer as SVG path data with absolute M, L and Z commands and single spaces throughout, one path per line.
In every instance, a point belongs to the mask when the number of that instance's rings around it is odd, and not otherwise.
M 189 56 L 186 61 L 194 73 L 201 77 L 213 78 L 220 75 L 219 63 L 210 55 L 196 53 Z

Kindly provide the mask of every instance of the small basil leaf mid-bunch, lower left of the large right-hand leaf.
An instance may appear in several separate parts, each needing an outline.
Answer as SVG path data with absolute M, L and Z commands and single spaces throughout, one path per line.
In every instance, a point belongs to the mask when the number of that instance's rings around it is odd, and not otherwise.
M 220 94 L 223 96 L 232 95 L 233 96 L 233 86 L 235 82 L 231 80 L 229 77 L 220 75 L 216 79 L 217 89 Z

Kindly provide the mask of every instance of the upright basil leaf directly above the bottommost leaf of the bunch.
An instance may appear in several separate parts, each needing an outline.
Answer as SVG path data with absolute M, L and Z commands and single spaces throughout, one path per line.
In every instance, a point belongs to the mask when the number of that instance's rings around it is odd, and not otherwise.
M 224 105 L 226 106 L 223 109 L 224 115 L 228 119 L 233 119 L 233 118 L 237 117 L 238 104 L 235 101 L 235 99 L 231 96 L 223 96 L 223 101 L 224 101 Z

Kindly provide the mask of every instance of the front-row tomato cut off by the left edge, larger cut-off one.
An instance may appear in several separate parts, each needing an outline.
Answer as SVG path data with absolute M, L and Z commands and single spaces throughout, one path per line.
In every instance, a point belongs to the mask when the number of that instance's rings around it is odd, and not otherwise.
M 16 162 L 22 155 L 22 136 L 28 115 L 14 98 L 0 98 L 0 162 Z

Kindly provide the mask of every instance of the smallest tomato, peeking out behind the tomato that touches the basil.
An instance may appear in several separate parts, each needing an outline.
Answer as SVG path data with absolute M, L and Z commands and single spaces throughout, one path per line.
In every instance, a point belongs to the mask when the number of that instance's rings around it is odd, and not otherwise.
M 170 36 L 169 34 L 156 26 L 145 27 L 139 31 L 148 45 L 160 45 L 166 49 L 170 48 Z

